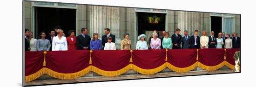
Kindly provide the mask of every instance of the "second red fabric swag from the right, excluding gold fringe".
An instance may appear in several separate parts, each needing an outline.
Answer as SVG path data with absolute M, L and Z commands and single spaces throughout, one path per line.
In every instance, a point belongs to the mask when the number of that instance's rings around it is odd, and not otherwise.
M 198 61 L 206 66 L 216 66 L 224 61 L 224 49 L 199 49 Z

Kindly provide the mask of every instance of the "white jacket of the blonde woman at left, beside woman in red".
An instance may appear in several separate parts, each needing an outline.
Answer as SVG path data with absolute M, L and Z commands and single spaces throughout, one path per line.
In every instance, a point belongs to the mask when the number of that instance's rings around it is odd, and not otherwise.
M 67 50 L 67 39 L 64 36 L 62 36 L 61 39 L 59 39 L 58 36 L 53 38 L 52 51 L 60 50 Z

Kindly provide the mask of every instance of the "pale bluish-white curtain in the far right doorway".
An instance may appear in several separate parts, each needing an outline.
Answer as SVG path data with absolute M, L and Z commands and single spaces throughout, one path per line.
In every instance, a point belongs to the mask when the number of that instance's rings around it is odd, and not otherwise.
M 223 18 L 223 32 L 231 34 L 234 30 L 233 18 Z

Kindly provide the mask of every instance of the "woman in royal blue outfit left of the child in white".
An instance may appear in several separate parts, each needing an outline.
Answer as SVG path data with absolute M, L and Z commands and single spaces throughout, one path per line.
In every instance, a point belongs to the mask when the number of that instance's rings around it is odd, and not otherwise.
M 100 50 L 101 47 L 101 40 L 98 39 L 98 33 L 94 33 L 93 40 L 90 41 L 90 48 L 91 50 Z

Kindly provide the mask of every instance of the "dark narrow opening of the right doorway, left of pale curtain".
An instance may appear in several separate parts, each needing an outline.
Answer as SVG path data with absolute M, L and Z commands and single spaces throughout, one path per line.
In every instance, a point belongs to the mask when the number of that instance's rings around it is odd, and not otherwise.
M 222 17 L 211 16 L 211 31 L 214 31 L 214 37 L 222 32 Z

